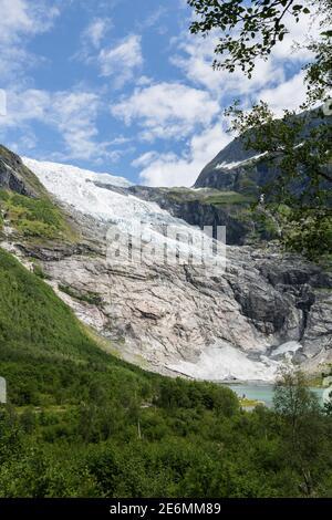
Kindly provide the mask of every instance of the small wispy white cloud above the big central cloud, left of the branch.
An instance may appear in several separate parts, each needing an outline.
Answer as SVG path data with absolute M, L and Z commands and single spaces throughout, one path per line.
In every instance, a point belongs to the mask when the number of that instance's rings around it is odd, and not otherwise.
M 112 76 L 117 87 L 131 81 L 143 65 L 141 37 L 132 34 L 118 45 L 102 49 L 97 58 L 103 76 Z

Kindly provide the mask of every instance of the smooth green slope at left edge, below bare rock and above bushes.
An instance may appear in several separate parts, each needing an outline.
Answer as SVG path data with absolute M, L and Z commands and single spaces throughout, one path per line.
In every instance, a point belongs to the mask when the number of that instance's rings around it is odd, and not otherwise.
M 17 404 L 75 403 L 82 377 L 105 387 L 153 376 L 107 355 L 35 274 L 0 250 L 0 373 Z M 83 392 L 83 393 L 82 393 Z

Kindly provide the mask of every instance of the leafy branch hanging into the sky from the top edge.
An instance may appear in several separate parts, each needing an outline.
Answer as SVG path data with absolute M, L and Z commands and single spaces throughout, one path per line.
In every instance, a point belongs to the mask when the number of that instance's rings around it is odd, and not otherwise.
M 310 3 L 297 0 L 188 0 L 198 14 L 190 31 L 204 35 L 215 29 L 221 31 L 215 52 L 222 55 L 222 61 L 216 59 L 214 66 L 230 72 L 240 66 L 250 76 L 256 59 L 268 58 L 289 32 L 291 21 L 299 22 L 301 15 L 311 13 Z M 329 0 L 322 3 L 329 3 Z

